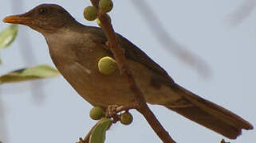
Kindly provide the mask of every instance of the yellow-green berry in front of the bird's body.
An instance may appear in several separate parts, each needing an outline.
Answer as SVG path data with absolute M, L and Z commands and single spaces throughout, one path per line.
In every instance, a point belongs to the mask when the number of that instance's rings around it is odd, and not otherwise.
M 110 75 L 116 70 L 116 61 L 109 56 L 105 56 L 99 60 L 98 68 L 100 73 Z

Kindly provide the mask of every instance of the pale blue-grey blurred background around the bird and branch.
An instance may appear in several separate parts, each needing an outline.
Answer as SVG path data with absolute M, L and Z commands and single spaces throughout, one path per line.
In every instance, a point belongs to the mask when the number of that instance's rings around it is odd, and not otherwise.
M 255 0 L 113 2 L 114 9 L 110 15 L 117 33 L 148 53 L 176 83 L 256 126 Z M 0 18 L 25 13 L 42 3 L 59 4 L 77 21 L 96 25 L 96 21 L 83 18 L 83 10 L 90 5 L 89 0 L 3 0 Z M 147 7 L 152 9 L 150 13 Z M 7 24 L 0 22 L 0 30 L 6 27 Z M 3 49 L 0 55 L 1 75 L 37 64 L 54 66 L 44 37 L 23 25 L 19 26 L 14 43 Z M 162 106 L 150 107 L 179 143 L 217 143 L 223 138 Z M 95 124 L 89 118 L 91 108 L 62 76 L 2 84 L 0 141 L 75 142 Z M 144 118 L 134 110 L 132 114 L 132 125 L 117 123 L 112 126 L 107 132 L 106 142 L 160 142 Z M 255 139 L 256 131 L 250 130 L 231 142 L 253 142 Z

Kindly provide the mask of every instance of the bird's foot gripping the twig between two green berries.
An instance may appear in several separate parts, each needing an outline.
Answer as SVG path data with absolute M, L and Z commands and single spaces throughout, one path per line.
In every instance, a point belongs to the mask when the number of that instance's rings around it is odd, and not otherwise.
M 106 110 L 106 117 L 112 118 L 112 122 L 116 123 L 120 121 L 120 114 L 118 113 L 120 113 L 121 111 L 128 111 L 130 109 L 136 109 L 136 106 L 135 105 L 131 105 L 131 106 L 110 105 Z

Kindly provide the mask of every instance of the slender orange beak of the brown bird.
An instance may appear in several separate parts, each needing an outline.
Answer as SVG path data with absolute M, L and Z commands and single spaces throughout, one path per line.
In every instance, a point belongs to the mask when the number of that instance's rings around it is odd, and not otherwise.
M 27 25 L 28 23 L 30 23 L 31 18 L 24 17 L 23 15 L 12 15 L 9 17 L 5 17 L 2 21 L 5 23 Z

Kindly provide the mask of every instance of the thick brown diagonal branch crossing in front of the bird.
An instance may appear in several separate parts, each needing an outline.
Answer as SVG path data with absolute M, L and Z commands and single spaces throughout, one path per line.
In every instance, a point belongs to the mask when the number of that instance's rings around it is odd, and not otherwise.
M 93 6 L 98 7 L 99 0 L 91 0 Z M 120 44 L 116 41 L 116 33 L 112 28 L 111 23 L 108 21 L 108 16 L 106 14 L 98 13 L 98 18 L 101 23 L 101 28 L 103 29 L 104 34 L 108 38 L 109 48 L 113 52 L 116 63 L 120 72 L 128 76 L 128 83 L 131 90 L 134 92 L 134 98 L 136 99 L 136 110 L 140 114 L 144 115 L 144 118 L 148 121 L 149 125 L 154 129 L 155 133 L 160 137 L 164 143 L 175 143 L 167 133 L 167 131 L 161 126 L 160 122 L 157 120 L 156 116 L 148 108 L 148 105 L 144 99 L 143 93 L 140 91 L 139 87 L 136 85 L 136 82 L 133 78 L 132 72 L 126 64 L 124 57 L 124 48 L 121 48 Z

